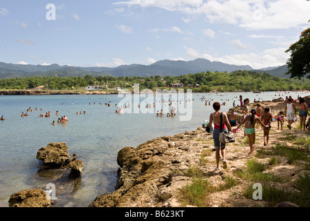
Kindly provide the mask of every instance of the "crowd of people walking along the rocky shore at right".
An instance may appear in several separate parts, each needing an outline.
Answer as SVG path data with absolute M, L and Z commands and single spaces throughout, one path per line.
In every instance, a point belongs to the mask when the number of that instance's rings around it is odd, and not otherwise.
M 262 108 L 262 106 L 258 103 L 256 104 L 256 108 L 249 109 L 249 98 L 242 99 L 240 95 L 240 112 L 242 116 L 240 118 L 240 124 L 237 123 L 237 114 L 236 109 L 229 111 L 228 115 L 225 112 L 220 112 L 221 104 L 219 102 L 213 103 L 214 113 L 209 115 L 209 122 L 207 124 L 208 133 L 213 133 L 214 140 L 214 148 L 216 151 L 216 170 L 220 170 L 219 162 L 220 162 L 220 153 L 223 157 L 223 169 L 227 168 L 226 161 L 226 152 L 225 146 L 226 143 L 219 141 L 220 132 L 228 133 L 227 129 L 231 131 L 231 133 L 237 133 L 240 131 L 240 127 L 244 124 L 244 137 L 248 137 L 249 140 L 249 157 L 254 158 L 254 149 L 255 149 L 255 139 L 256 139 L 256 129 L 262 128 L 263 137 L 264 137 L 264 146 L 269 146 L 269 132 L 271 130 L 271 122 L 277 121 L 278 130 L 283 130 L 283 125 L 285 123 L 285 117 L 287 117 L 287 128 L 289 130 L 292 129 L 291 124 L 293 122 L 297 122 L 297 111 L 296 106 L 299 109 L 299 119 L 300 119 L 300 131 L 308 130 L 310 131 L 310 117 L 306 124 L 307 116 L 310 116 L 310 103 L 306 104 L 303 97 L 299 97 L 297 99 L 293 99 L 291 96 L 286 97 L 285 99 L 285 110 L 279 111 L 276 116 L 273 116 L 269 107 Z M 207 103 L 206 103 L 207 104 Z M 235 108 L 235 105 L 234 105 Z M 238 107 L 236 107 L 238 108 Z M 222 116 L 222 117 L 221 117 Z M 222 118 L 222 119 L 221 119 Z M 222 124 L 220 124 L 222 122 Z M 214 124 L 214 128 L 212 127 L 212 123 Z M 232 128 L 232 126 L 236 126 L 236 128 Z M 209 128 L 212 128 L 210 130 Z

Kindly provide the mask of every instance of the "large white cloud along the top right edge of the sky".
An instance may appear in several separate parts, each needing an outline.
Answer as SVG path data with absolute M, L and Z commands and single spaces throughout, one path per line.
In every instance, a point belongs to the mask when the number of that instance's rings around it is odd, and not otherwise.
M 210 23 L 256 30 L 295 28 L 307 23 L 310 14 L 310 3 L 304 0 L 130 0 L 115 4 L 163 8 L 190 17 L 203 15 Z

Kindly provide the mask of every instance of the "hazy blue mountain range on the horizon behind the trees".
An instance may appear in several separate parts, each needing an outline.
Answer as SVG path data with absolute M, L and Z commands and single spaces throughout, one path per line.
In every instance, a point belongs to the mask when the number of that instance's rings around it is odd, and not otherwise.
M 231 73 L 234 70 L 254 70 L 251 66 L 237 66 L 225 64 L 219 61 L 209 61 L 207 59 L 195 59 L 193 61 L 172 61 L 161 60 L 154 64 L 130 64 L 122 65 L 116 68 L 107 67 L 79 67 L 79 66 L 59 66 L 58 64 L 51 65 L 32 65 L 32 64 L 8 64 L 0 62 L 0 79 L 14 78 L 14 77 L 32 77 L 32 76 L 58 76 L 58 77 L 74 77 L 92 75 L 98 76 L 136 76 L 136 77 L 149 77 L 160 75 L 164 76 L 179 76 L 187 75 L 189 73 L 201 73 L 207 71 Z M 287 66 L 269 67 L 255 70 L 259 73 L 270 73 L 276 77 L 286 77 Z

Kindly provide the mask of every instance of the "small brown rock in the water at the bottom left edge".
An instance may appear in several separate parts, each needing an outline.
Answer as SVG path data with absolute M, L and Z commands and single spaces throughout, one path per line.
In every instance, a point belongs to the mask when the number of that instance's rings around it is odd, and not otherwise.
M 50 200 L 41 189 L 26 189 L 14 193 L 8 201 L 10 207 L 50 207 Z

